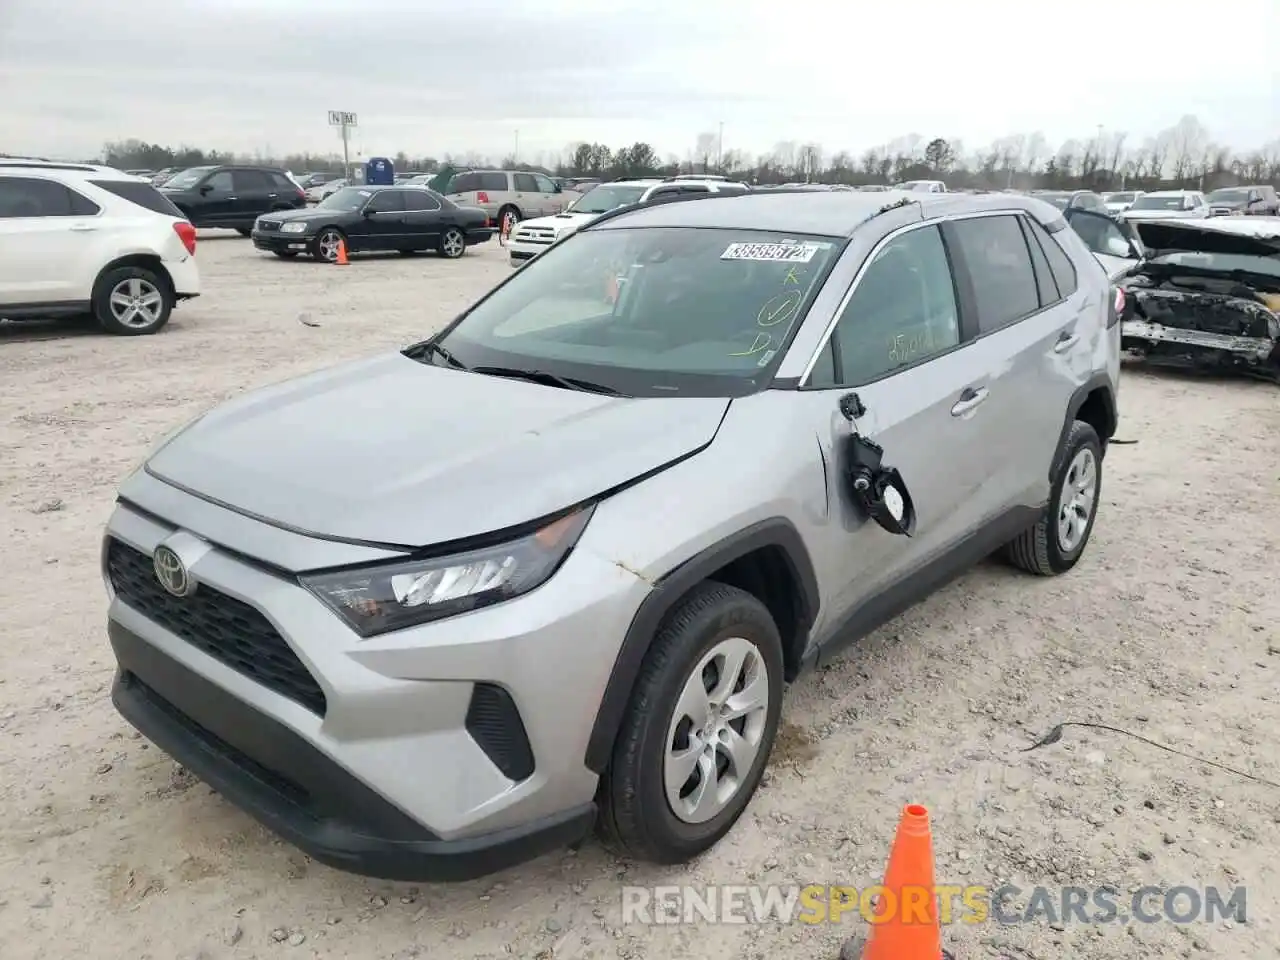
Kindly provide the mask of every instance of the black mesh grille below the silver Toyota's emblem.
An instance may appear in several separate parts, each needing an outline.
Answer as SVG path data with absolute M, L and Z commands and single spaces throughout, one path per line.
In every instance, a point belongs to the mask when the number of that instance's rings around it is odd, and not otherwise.
M 324 691 L 261 611 L 201 584 L 174 596 L 155 577 L 151 558 L 111 538 L 106 571 L 116 595 L 196 649 L 324 716 Z

